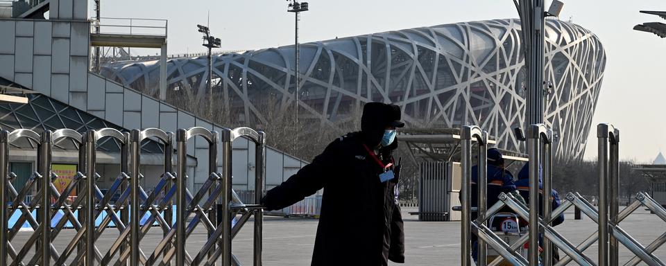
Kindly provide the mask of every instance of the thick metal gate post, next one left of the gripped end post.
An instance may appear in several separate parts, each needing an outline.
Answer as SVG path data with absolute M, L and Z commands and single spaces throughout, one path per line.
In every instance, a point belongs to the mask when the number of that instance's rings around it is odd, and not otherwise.
M 220 215 L 222 222 L 219 224 L 222 227 L 222 266 L 231 265 L 231 188 L 232 188 L 232 169 L 231 169 L 231 130 L 224 129 L 221 135 L 222 143 L 222 199 L 221 202 L 224 206 L 223 213 Z

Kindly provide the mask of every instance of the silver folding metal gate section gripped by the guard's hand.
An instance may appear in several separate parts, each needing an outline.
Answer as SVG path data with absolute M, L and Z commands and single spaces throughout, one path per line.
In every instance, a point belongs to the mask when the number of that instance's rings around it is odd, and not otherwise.
M 208 176 L 205 184 L 194 195 L 186 186 L 187 144 L 195 136 L 207 141 L 209 154 Z M 234 139 L 246 137 L 256 145 L 255 202 L 259 202 L 264 187 L 265 134 L 248 127 L 222 132 L 211 132 L 203 127 L 179 129 L 175 136 L 156 128 L 119 132 L 112 128 L 89 130 L 79 134 L 74 130 L 46 130 L 37 134 L 31 130 L 0 131 L 0 262 L 2 265 L 240 265 L 231 253 L 232 239 L 241 227 L 255 216 L 253 265 L 262 265 L 262 208 L 243 204 L 231 189 L 231 161 Z M 174 138 L 175 137 L 175 138 Z M 117 178 L 101 193 L 96 184 L 96 154 L 101 139 L 115 139 L 120 144 L 121 163 Z M 37 171 L 20 191 L 12 181 L 16 175 L 9 172 L 9 147 L 28 139 L 37 143 Z M 141 145 L 151 139 L 164 145 L 164 171 L 151 193 L 140 185 Z M 60 193 L 53 181 L 58 175 L 51 171 L 51 152 L 61 141 L 71 141 L 78 147 L 78 172 L 76 177 Z M 176 147 L 174 147 L 174 143 Z M 222 172 L 217 172 L 218 145 L 221 145 Z M 172 169 L 172 154 L 177 148 L 176 172 Z M 26 200 L 27 193 L 37 187 L 37 194 Z M 71 193 L 76 189 L 76 197 Z M 112 195 L 120 196 L 111 204 Z M 11 199 L 11 201 L 10 201 Z M 175 202 L 175 205 L 174 205 Z M 216 204 L 222 213 L 216 216 Z M 176 208 L 176 217 L 172 215 Z M 37 219 L 31 212 L 37 213 Z M 62 211 L 64 215 L 56 213 Z M 8 217 L 21 213 L 19 220 L 9 227 Z M 74 214 L 74 213 L 78 214 Z M 102 222 L 96 219 L 104 213 Z M 148 216 L 144 222 L 140 220 Z M 232 219 L 240 217 L 232 226 Z M 193 216 L 193 217 L 192 217 Z M 191 218 L 191 220 L 189 219 Z M 28 222 L 33 233 L 22 246 L 12 240 L 22 224 Z M 55 223 L 56 225 L 52 225 Z M 66 224 L 74 230 L 74 237 L 65 247 L 55 247 L 53 239 Z M 113 224 L 114 227 L 109 227 Z M 162 231 L 162 240 L 153 250 L 144 252 L 141 241 L 155 228 Z M 196 254 L 186 250 L 187 238 L 197 226 L 205 227 L 207 239 Z M 106 230 L 118 230 L 117 238 L 108 249 L 96 245 Z M 142 249 L 143 248 L 143 249 Z M 32 257 L 28 251 L 35 250 Z M 26 261 L 27 260 L 27 261 Z

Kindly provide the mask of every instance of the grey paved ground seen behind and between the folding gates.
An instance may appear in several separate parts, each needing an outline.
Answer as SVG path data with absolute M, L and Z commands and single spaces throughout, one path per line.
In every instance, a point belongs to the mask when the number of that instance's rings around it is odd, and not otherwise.
M 408 215 L 407 212 L 415 209 L 406 208 L 404 213 L 405 244 L 407 247 L 407 261 L 405 265 L 459 265 L 460 258 L 460 223 L 459 222 L 418 222 L 416 216 Z M 285 219 L 267 217 L 264 220 L 264 265 L 309 265 L 314 236 L 316 233 L 317 220 L 312 219 Z M 666 223 L 648 211 L 640 210 L 630 215 L 620 224 L 626 231 L 631 233 L 643 245 L 648 245 L 652 240 L 666 231 Z M 573 220 L 573 213 L 567 213 L 567 220 L 556 229 L 567 237 L 574 245 L 587 238 L 597 228 L 589 218 Z M 20 249 L 32 232 L 21 232 L 12 241 L 16 249 Z M 73 230 L 66 230 L 54 240 L 58 251 L 62 251 L 74 236 Z M 107 229 L 96 246 L 105 254 L 112 242 L 117 238 L 116 229 Z M 142 240 L 142 250 L 146 254 L 151 253 L 162 239 L 159 228 L 154 227 Z M 187 240 L 187 249 L 194 256 L 206 239 L 203 227 L 198 228 Z M 252 227 L 251 220 L 241 230 L 234 240 L 234 254 L 249 265 L 252 258 Z M 26 254 L 24 261 L 27 263 L 32 257 L 31 249 Z M 586 252 L 590 258 L 597 257 L 597 247 L 593 245 Z M 656 256 L 666 260 L 666 250 L 658 249 Z M 622 248 L 620 262 L 624 264 L 633 256 Z M 397 264 L 393 264 L 397 265 Z

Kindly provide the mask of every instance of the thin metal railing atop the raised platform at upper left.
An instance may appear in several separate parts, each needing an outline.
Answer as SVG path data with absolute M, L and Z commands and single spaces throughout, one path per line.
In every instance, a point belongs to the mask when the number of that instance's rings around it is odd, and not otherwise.
M 101 17 L 90 22 L 90 33 L 167 37 L 167 19 Z

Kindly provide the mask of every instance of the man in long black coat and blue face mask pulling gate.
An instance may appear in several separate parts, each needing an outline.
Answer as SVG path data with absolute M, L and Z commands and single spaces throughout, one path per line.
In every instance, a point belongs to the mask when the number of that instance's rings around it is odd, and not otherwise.
M 334 140 L 262 199 L 266 209 L 277 210 L 324 188 L 311 265 L 404 263 L 402 216 L 394 199 L 399 170 L 391 156 L 398 148 L 395 129 L 403 126 L 398 105 L 367 103 L 360 132 Z

